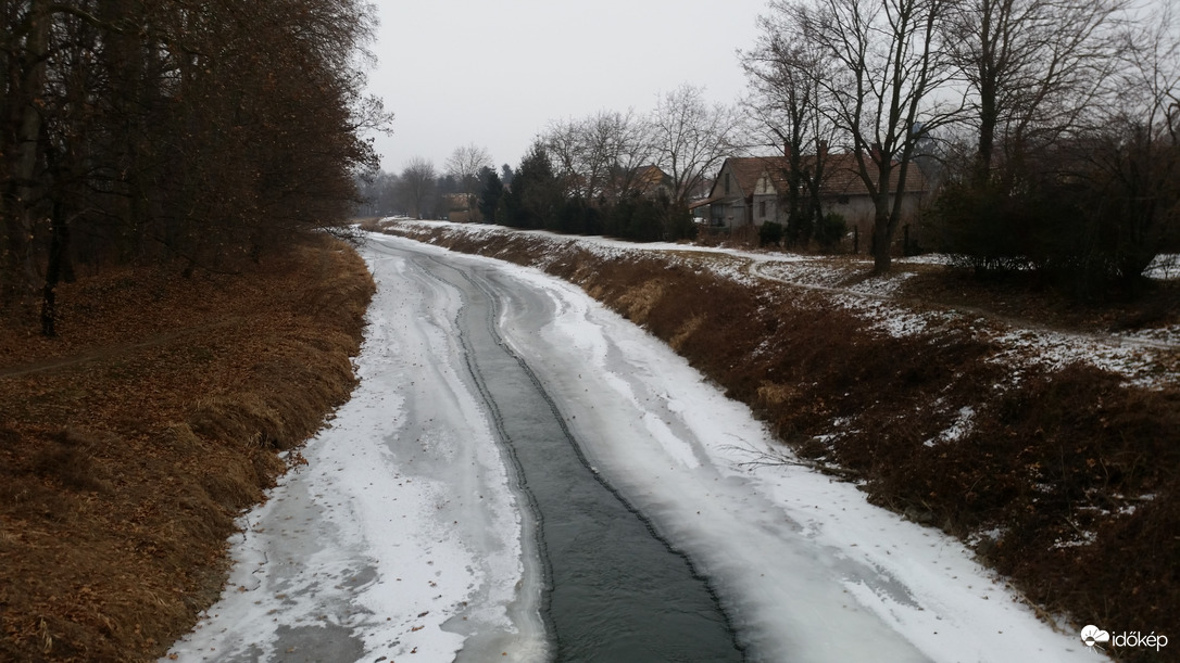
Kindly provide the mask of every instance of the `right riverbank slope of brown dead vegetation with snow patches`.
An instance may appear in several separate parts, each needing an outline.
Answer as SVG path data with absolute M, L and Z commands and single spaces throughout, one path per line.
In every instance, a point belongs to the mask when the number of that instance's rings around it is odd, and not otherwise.
M 1110 632 L 1171 635 L 1180 624 L 1175 384 L 1129 386 L 1088 365 L 1016 373 L 966 323 L 894 338 L 824 293 L 753 289 L 683 260 L 555 254 L 527 236 L 394 232 L 579 284 L 747 403 L 807 460 L 966 541 L 1043 614 Z

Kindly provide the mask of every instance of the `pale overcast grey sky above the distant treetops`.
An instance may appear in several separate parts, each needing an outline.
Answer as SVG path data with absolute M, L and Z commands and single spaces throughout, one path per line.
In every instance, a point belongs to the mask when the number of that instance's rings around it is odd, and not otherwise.
M 381 167 L 442 170 L 455 147 L 519 164 L 552 120 L 647 112 L 682 82 L 733 102 L 766 0 L 376 0 L 369 92 L 395 114 Z

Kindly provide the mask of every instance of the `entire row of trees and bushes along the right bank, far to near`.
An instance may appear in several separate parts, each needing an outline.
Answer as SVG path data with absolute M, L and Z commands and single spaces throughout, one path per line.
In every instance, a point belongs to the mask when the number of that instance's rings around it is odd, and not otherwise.
M 382 177 L 414 216 L 445 216 L 408 203 L 430 192 L 478 191 L 486 221 L 678 239 L 726 157 L 773 153 L 786 239 L 808 246 L 832 244 L 824 185 L 841 154 L 872 199 L 876 271 L 891 266 L 920 171 L 927 247 L 1084 296 L 1180 250 L 1178 14 L 1147 0 L 772 0 L 739 53 L 736 105 L 684 84 L 649 113 L 552 121 L 511 186 L 490 164 L 437 175 L 417 160 Z M 668 175 L 657 194 L 651 165 Z

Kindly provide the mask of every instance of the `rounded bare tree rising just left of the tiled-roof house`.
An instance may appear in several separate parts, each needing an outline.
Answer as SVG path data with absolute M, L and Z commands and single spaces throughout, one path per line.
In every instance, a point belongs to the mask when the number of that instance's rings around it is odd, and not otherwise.
M 656 164 L 668 172 L 673 203 L 684 206 L 733 150 L 738 113 L 723 104 L 709 105 L 704 89 L 683 84 L 660 97 L 651 114 Z

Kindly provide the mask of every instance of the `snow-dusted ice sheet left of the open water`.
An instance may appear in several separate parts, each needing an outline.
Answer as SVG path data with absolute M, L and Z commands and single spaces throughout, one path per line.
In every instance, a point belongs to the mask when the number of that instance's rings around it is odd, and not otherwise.
M 539 588 L 490 425 L 455 372 L 459 305 L 368 252 L 379 284 L 360 386 L 234 537 L 222 601 L 179 661 L 452 661 L 465 643 L 539 659 Z M 531 563 L 531 559 L 530 559 Z

